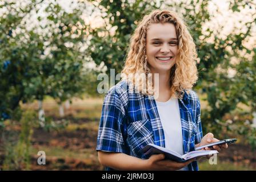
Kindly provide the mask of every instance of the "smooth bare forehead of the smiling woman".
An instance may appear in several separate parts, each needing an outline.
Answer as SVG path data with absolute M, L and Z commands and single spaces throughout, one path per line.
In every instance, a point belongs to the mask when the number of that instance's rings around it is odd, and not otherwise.
M 147 38 L 177 39 L 175 26 L 172 23 L 152 23 L 147 29 Z

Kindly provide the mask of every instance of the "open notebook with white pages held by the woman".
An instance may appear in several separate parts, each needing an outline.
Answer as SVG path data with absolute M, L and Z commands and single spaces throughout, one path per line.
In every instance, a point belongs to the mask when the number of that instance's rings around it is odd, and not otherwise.
M 153 154 L 165 154 L 165 159 L 174 160 L 179 163 L 186 162 L 189 159 L 196 158 L 198 156 L 212 155 L 217 154 L 217 150 L 197 150 L 191 151 L 187 154 L 180 155 L 177 152 L 167 150 L 164 147 L 157 146 L 155 144 L 147 144 L 144 148 L 142 148 L 139 152 L 144 155 L 153 155 Z

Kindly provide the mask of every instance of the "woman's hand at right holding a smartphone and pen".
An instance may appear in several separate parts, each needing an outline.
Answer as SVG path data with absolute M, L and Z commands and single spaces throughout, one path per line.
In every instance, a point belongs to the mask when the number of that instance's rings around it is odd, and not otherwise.
M 219 140 L 216 139 L 216 138 L 214 138 L 214 135 L 213 135 L 212 133 L 207 133 L 207 134 L 205 135 L 205 137 L 202 138 L 201 142 L 196 145 L 196 147 L 204 146 L 204 145 L 206 145 L 206 144 L 214 143 L 214 142 L 218 142 L 218 141 L 219 141 Z M 214 150 L 217 150 L 217 151 L 219 152 L 219 151 L 221 151 L 221 149 L 226 149 L 227 147 L 228 147 L 228 146 L 227 146 L 227 144 L 225 143 L 225 144 L 222 144 L 222 145 L 220 145 L 220 146 L 215 145 L 215 146 L 213 146 L 213 149 L 214 149 Z M 205 148 L 202 148 L 201 150 L 211 150 L 211 148 L 210 148 L 210 147 L 205 147 Z M 207 156 L 207 158 L 209 159 L 210 156 Z

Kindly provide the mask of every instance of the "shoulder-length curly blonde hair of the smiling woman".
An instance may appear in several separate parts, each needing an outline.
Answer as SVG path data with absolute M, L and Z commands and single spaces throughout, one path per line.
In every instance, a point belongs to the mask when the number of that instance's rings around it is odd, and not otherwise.
M 171 96 L 182 98 L 184 92 L 189 92 L 198 79 L 196 66 L 197 52 L 195 43 L 190 35 L 186 24 L 179 16 L 169 10 L 154 10 L 149 15 L 145 15 L 138 24 L 133 36 L 130 39 L 130 47 L 125 61 L 125 67 L 122 74 L 129 77 L 129 81 L 137 85 L 138 80 L 146 81 L 146 88 L 139 81 L 137 89 L 143 94 L 154 94 L 154 89 L 150 89 L 153 85 L 152 74 L 146 58 L 146 36 L 147 30 L 151 23 L 172 23 L 178 36 L 178 54 L 174 66 L 171 68 L 170 74 L 170 93 Z M 144 73 L 146 77 L 138 76 Z

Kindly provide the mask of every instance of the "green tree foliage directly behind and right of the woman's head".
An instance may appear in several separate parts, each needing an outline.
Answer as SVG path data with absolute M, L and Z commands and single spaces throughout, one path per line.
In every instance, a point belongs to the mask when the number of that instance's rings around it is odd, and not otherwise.
M 233 111 L 239 102 L 250 106 L 251 113 L 256 109 L 256 49 L 245 46 L 245 40 L 252 36 L 251 30 L 253 26 L 255 27 L 255 12 L 251 14 L 253 18 L 251 22 L 243 22 L 245 23 L 243 30 L 237 28 L 225 37 L 220 36 L 225 23 L 216 24 L 216 27 L 219 27 L 215 30 L 207 28 L 203 31 L 205 24 L 215 18 L 215 14 L 210 14 L 208 9 L 211 1 L 91 2 L 95 10 L 101 11 L 99 18 L 105 22 L 103 26 L 90 30 L 93 38 L 89 51 L 95 63 L 100 64 L 103 61 L 108 70 L 115 68 L 117 72 L 120 72 L 129 48 L 130 35 L 143 15 L 159 7 L 174 10 L 183 15 L 197 45 L 199 80 L 195 89 L 199 93 L 207 94 L 206 100 L 210 106 L 201 113 L 203 131 L 211 131 L 218 137 L 226 122 L 223 117 L 226 113 Z M 230 0 L 228 2 L 233 12 L 239 12 L 247 7 L 255 9 L 255 4 L 251 1 Z M 217 13 L 218 11 L 217 9 Z M 225 21 L 229 20 L 222 20 L 222 22 Z M 246 54 L 242 55 L 242 52 Z M 239 63 L 231 64 L 230 60 L 233 58 Z M 235 76 L 230 76 L 230 69 L 235 71 Z

